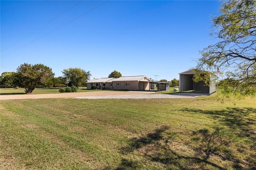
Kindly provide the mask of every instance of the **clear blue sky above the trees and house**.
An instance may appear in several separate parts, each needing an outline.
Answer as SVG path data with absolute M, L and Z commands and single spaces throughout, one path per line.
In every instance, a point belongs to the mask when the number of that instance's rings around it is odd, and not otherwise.
M 1 0 L 0 72 L 42 63 L 55 77 L 78 67 L 91 79 L 116 70 L 170 81 L 216 41 L 220 1 L 104 2 Z

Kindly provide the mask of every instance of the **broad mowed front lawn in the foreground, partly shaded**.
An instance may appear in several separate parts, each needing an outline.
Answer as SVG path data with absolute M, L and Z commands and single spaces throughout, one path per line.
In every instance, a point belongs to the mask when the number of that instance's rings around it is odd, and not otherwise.
M 0 169 L 256 169 L 251 98 L 25 99 L 0 109 Z

